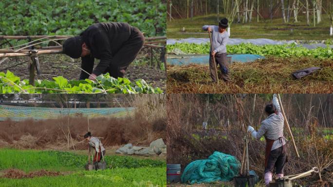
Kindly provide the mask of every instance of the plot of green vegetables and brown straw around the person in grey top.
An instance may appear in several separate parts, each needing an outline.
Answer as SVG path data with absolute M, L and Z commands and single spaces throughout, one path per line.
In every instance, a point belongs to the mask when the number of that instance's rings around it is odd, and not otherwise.
M 208 44 L 167 45 L 168 53 L 208 54 Z M 214 83 L 207 65 L 168 66 L 167 93 L 332 93 L 333 53 L 330 48 L 309 50 L 295 45 L 239 44 L 227 46 L 230 54 L 265 56 L 253 62 L 229 65 L 231 81 Z M 295 79 L 297 70 L 320 67 L 313 74 Z M 221 77 L 220 70 L 218 71 Z

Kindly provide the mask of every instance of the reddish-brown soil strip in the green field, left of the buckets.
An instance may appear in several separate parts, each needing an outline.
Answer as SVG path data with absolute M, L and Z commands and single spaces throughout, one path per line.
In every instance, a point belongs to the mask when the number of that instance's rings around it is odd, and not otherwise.
M 42 177 L 42 176 L 59 176 L 63 175 L 59 171 L 47 171 L 47 170 L 39 170 L 39 171 L 31 171 L 29 173 L 25 173 L 19 169 L 7 169 L 3 171 L 2 177 L 9 179 L 22 179 L 22 178 L 34 178 L 34 177 Z

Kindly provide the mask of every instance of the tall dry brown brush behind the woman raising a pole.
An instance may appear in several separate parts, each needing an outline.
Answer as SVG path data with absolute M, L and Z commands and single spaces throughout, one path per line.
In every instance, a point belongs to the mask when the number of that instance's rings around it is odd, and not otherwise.
M 240 110 L 236 97 L 244 106 Z M 288 163 L 285 174 L 296 174 L 312 167 L 320 169 L 320 175 L 302 179 L 300 184 L 322 186 L 333 184 L 333 103 L 331 95 L 284 94 L 282 103 L 296 141 L 300 158 L 296 157 L 289 141 Z M 214 151 L 220 151 L 242 160 L 245 128 L 249 117 L 258 130 L 266 117 L 264 106 L 270 103 L 271 94 L 170 94 L 167 99 L 167 163 L 181 164 L 182 170 L 192 161 L 205 159 Z M 208 100 L 208 101 L 207 101 Z M 255 107 L 253 107 L 255 106 Z M 203 130 L 203 121 L 208 128 Z M 316 131 L 314 131 L 316 127 Z M 325 138 L 325 135 L 329 138 Z M 290 138 L 287 131 L 286 138 Z M 330 136 L 331 135 L 331 136 Z M 265 141 L 249 142 L 250 169 L 263 178 Z

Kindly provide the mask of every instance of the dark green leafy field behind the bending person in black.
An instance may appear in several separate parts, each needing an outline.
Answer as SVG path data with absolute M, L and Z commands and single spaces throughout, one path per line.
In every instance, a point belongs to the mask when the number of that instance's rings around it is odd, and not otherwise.
M 97 22 L 128 22 L 166 35 L 162 0 L 1 0 L 0 35 L 78 35 Z

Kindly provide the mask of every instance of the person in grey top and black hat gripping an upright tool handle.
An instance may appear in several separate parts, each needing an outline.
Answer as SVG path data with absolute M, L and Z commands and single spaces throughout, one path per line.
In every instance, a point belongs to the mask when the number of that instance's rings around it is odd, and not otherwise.
M 214 63 L 220 64 L 220 70 L 222 72 L 223 80 L 229 81 L 229 69 L 226 62 L 226 43 L 229 39 L 229 35 L 225 30 L 228 27 L 228 19 L 223 18 L 219 22 L 219 26 L 215 25 L 204 25 L 203 30 L 212 32 L 212 45 L 213 49 L 209 52 L 209 69 L 210 76 L 214 82 L 217 82 L 217 77 L 215 75 Z M 215 56 L 215 62 L 213 62 L 213 57 Z

